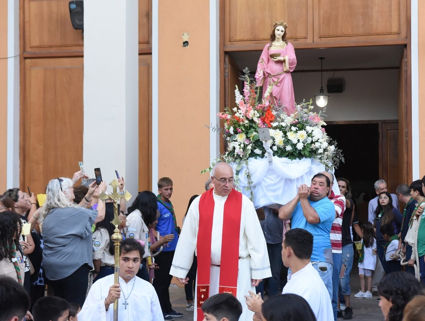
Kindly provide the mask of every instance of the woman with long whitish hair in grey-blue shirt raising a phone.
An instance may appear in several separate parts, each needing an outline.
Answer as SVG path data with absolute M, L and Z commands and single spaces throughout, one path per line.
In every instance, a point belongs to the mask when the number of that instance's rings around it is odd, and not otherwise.
M 78 206 L 73 202 L 72 186 L 73 181 L 63 177 L 47 185 L 39 219 L 44 240 L 42 266 L 54 295 L 82 307 L 93 269 L 91 226 L 105 218 L 105 203 L 99 199 L 97 210 Z M 106 184 L 101 182 L 98 188 L 104 192 Z

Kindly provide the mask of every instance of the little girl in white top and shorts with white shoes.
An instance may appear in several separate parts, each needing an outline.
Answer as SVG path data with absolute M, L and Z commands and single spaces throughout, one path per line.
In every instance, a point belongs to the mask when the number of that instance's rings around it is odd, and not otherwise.
M 362 250 L 359 258 L 359 278 L 361 290 L 355 294 L 355 298 L 372 297 L 372 273 L 376 264 L 376 236 L 371 222 L 362 225 L 363 239 Z M 367 291 L 365 291 L 365 276 L 367 280 Z

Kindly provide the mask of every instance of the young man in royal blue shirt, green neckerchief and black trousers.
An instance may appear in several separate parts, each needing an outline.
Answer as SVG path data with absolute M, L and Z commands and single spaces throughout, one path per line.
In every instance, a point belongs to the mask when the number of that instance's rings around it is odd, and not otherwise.
M 176 214 L 174 213 L 173 204 L 170 201 L 173 194 L 173 181 L 168 177 L 162 177 L 158 180 L 158 211 L 159 218 L 156 224 L 156 230 L 159 237 L 169 234 L 174 235 L 169 243 L 164 244 L 164 249 L 155 257 L 155 263 L 159 269 L 155 269 L 155 278 L 152 285 L 158 294 L 159 304 L 161 305 L 164 320 L 174 320 L 183 316 L 183 313 L 173 310 L 170 302 L 170 275 L 171 263 L 173 262 L 174 252 L 178 241 L 178 227 L 176 222 Z

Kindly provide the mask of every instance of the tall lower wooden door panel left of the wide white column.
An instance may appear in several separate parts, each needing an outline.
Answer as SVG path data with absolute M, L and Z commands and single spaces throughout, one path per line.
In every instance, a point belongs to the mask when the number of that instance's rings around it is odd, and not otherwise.
M 83 58 L 25 60 L 20 187 L 44 193 L 82 161 Z

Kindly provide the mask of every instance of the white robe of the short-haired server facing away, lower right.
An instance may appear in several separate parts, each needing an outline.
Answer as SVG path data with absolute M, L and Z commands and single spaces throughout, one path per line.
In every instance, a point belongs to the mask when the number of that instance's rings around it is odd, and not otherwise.
M 306 299 L 317 320 L 334 320 L 328 289 L 311 263 L 288 276 L 282 294 L 293 293 Z

